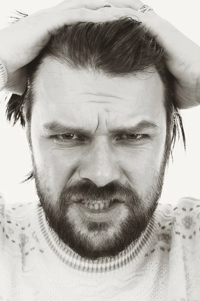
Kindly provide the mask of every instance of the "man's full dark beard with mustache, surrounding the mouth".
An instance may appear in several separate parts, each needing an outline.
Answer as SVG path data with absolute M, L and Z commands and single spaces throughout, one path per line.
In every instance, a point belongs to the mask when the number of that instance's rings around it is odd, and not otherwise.
M 115 257 L 138 241 L 158 206 L 168 162 L 165 154 L 159 172 L 155 172 L 156 176 L 153 177 L 153 185 L 148 187 L 145 194 L 139 195 L 128 182 L 121 184 L 112 181 L 98 188 L 90 180 L 81 179 L 63 187 L 56 200 L 46 185 L 48 178 L 45 171 L 37 171 L 31 156 L 36 193 L 48 226 L 59 241 L 86 260 Z M 96 199 L 122 200 L 123 218 L 118 218 L 117 222 L 115 219 L 92 222 L 72 210 L 72 206 L 78 206 L 75 202 Z

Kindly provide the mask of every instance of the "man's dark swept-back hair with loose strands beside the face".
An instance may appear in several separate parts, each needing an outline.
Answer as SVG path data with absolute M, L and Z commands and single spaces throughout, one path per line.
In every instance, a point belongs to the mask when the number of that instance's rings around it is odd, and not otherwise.
M 17 12 L 20 21 L 27 15 Z M 30 120 L 34 100 L 34 80 L 45 57 L 51 57 L 73 70 L 89 70 L 103 73 L 108 77 L 131 76 L 138 72 L 152 75 L 152 70 L 160 76 L 164 87 L 164 107 L 166 110 L 166 147 L 167 163 L 169 155 L 181 129 L 184 148 L 185 136 L 182 119 L 175 105 L 172 82 L 173 76 L 167 70 L 164 49 L 156 43 L 144 25 L 130 17 L 121 17 L 106 22 L 77 22 L 60 28 L 50 39 L 41 53 L 27 65 L 28 78 L 24 93 L 12 94 L 6 105 L 7 120 L 13 117 L 13 125 L 17 120 L 23 127 L 27 122 L 29 128 L 29 146 L 31 147 Z M 6 96 L 7 98 L 7 96 Z M 24 114 L 23 114 L 24 113 Z M 173 159 L 173 158 L 172 158 Z M 33 178 L 32 172 L 23 182 Z

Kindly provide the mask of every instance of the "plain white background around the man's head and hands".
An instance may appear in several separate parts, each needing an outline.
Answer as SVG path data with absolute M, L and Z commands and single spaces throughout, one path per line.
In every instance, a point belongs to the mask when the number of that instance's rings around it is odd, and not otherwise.
M 40 9 L 58 4 L 59 0 L 1 0 L 0 29 L 6 26 L 14 9 L 31 14 Z M 189 39 L 200 45 L 200 21 L 198 0 L 184 2 L 182 0 L 146 0 L 162 18 L 171 22 Z M 191 54 L 192 55 L 192 54 Z M 199 70 L 200 71 L 200 70 Z M 3 93 L 0 93 L 0 101 Z M 170 163 L 165 178 L 160 203 L 175 205 L 179 198 L 191 196 L 200 198 L 200 106 L 182 110 L 183 125 L 186 135 L 186 155 L 183 144 L 175 146 L 173 164 Z M 14 127 L 5 119 L 5 103 L 0 104 L 0 191 L 7 203 L 30 202 L 35 200 L 34 181 L 19 184 L 31 170 L 31 158 L 25 132 L 16 124 Z

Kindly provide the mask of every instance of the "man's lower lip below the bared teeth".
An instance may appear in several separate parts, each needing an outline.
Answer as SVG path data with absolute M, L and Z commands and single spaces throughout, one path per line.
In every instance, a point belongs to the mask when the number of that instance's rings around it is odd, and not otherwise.
M 114 218 L 120 210 L 121 202 L 112 203 L 109 208 L 103 210 L 90 210 L 86 208 L 82 203 L 76 203 L 78 212 L 88 221 L 91 222 L 107 222 Z

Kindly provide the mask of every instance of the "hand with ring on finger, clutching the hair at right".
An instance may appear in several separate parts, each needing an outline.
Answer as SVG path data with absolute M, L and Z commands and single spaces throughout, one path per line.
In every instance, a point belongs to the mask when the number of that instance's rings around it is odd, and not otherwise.
M 174 76 L 173 91 L 180 109 L 200 104 L 200 47 L 185 37 L 168 21 L 150 10 L 137 12 L 143 5 L 140 0 L 110 0 L 114 7 L 98 9 L 112 16 L 127 16 L 138 20 L 164 48 L 167 69 Z

